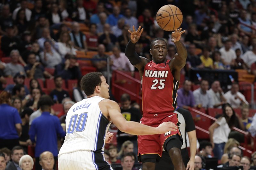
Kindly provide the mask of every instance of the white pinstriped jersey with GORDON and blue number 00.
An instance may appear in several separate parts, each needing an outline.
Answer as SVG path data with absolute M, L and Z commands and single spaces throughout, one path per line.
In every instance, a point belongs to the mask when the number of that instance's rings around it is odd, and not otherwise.
M 103 152 L 111 121 L 101 113 L 95 96 L 74 104 L 66 117 L 66 137 L 59 155 L 75 151 Z

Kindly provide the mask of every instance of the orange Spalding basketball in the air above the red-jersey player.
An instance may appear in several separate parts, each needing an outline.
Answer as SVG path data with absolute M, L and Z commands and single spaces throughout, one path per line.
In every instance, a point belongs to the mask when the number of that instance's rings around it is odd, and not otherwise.
M 179 28 L 182 20 L 182 12 L 175 5 L 164 5 L 156 13 L 157 24 L 165 31 Z

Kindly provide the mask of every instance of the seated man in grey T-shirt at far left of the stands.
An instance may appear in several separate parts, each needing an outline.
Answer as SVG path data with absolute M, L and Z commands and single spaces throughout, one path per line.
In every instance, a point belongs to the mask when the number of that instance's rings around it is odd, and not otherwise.
M 7 63 L 4 69 L 4 73 L 8 77 L 14 77 L 17 73 L 25 74 L 25 70 L 21 64 L 19 64 L 20 53 L 18 50 L 11 51 L 11 63 Z

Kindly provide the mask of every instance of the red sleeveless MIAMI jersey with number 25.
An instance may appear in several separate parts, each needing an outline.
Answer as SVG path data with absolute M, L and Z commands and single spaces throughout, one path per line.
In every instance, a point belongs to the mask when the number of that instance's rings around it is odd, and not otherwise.
M 146 64 L 142 75 L 143 114 L 170 113 L 176 109 L 179 81 L 172 76 L 169 62 Z

